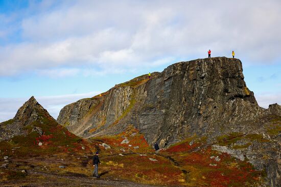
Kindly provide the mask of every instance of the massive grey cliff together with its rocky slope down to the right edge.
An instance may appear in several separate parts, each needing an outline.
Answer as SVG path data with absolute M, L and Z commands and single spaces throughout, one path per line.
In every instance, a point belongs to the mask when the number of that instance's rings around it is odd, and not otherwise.
M 160 147 L 206 137 L 214 149 L 266 169 L 269 185 L 280 186 L 280 124 L 274 123 L 279 118 L 278 104 L 268 110 L 259 107 L 244 82 L 241 61 L 222 57 L 176 63 L 152 73 L 151 79 L 143 75 L 116 85 L 65 106 L 57 120 L 85 138 L 113 135 L 133 125 Z M 218 137 L 231 132 L 246 138 L 216 146 Z M 262 136 L 263 141 L 249 135 Z

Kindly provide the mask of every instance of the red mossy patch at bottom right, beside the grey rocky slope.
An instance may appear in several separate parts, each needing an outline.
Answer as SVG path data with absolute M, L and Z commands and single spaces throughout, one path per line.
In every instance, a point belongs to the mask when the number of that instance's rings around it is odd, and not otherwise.
M 197 152 L 175 153 L 172 157 L 190 171 L 188 183 L 196 186 L 245 186 L 263 175 L 251 164 L 213 151 L 210 147 Z M 216 161 L 215 157 L 219 159 Z

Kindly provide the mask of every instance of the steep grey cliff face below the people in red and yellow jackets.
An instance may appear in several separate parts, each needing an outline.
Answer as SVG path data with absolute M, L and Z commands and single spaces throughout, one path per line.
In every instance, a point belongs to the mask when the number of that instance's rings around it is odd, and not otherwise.
M 244 82 L 238 59 L 180 62 L 65 106 L 58 122 L 79 136 L 120 132 L 132 124 L 164 147 L 191 135 L 216 136 L 262 109 Z M 230 125 L 230 126 L 229 126 Z

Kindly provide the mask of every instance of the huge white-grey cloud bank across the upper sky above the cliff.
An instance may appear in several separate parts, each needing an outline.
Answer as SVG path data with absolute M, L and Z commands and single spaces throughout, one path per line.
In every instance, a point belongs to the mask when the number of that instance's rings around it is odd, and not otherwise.
M 52 76 L 54 68 L 83 65 L 129 70 L 167 58 L 204 58 L 209 48 L 214 56 L 234 49 L 247 63 L 280 59 L 277 0 L 77 1 L 50 8 L 52 2 L 22 18 L 25 42 L 0 48 L 0 76 L 27 70 Z

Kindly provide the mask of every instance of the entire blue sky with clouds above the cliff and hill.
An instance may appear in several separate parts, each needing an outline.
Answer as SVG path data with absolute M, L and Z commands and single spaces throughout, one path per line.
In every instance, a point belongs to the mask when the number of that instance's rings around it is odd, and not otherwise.
M 280 0 L 0 0 L 0 122 L 31 96 L 57 118 L 66 104 L 208 49 L 235 50 L 259 105 L 281 104 L 280 10 Z

